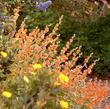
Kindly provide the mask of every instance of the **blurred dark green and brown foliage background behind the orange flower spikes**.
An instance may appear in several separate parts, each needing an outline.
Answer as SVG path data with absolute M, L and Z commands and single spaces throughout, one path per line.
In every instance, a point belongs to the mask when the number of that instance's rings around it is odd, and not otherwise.
M 12 15 L 13 8 L 19 6 L 21 11 L 19 12 L 20 16 L 17 20 L 16 29 L 19 29 L 21 22 L 25 19 L 28 31 L 36 26 L 44 28 L 46 24 L 52 28 L 58 17 L 63 14 L 63 23 L 59 29 L 62 44 L 73 34 L 76 34 L 76 43 L 73 44 L 73 46 L 82 45 L 82 50 L 85 55 L 93 52 L 93 58 L 100 58 L 100 61 L 94 68 L 95 74 L 103 76 L 109 75 L 110 11 L 108 5 L 95 0 L 53 0 L 49 9 L 39 11 L 36 8 L 36 2 L 39 3 L 40 0 L 1 0 L 1 6 L 4 8 L 2 8 L 2 11 L 5 10 L 5 12 L 3 12 L 5 15 Z M 5 34 L 13 28 L 12 26 L 8 28 L 8 30 L 5 29 Z

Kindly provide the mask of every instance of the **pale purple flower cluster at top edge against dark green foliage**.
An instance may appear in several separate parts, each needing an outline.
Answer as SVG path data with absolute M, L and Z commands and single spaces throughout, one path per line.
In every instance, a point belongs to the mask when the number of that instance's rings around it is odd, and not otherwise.
M 48 0 L 46 2 L 40 2 L 36 5 L 36 8 L 40 11 L 45 11 L 50 5 L 52 4 L 51 0 Z

